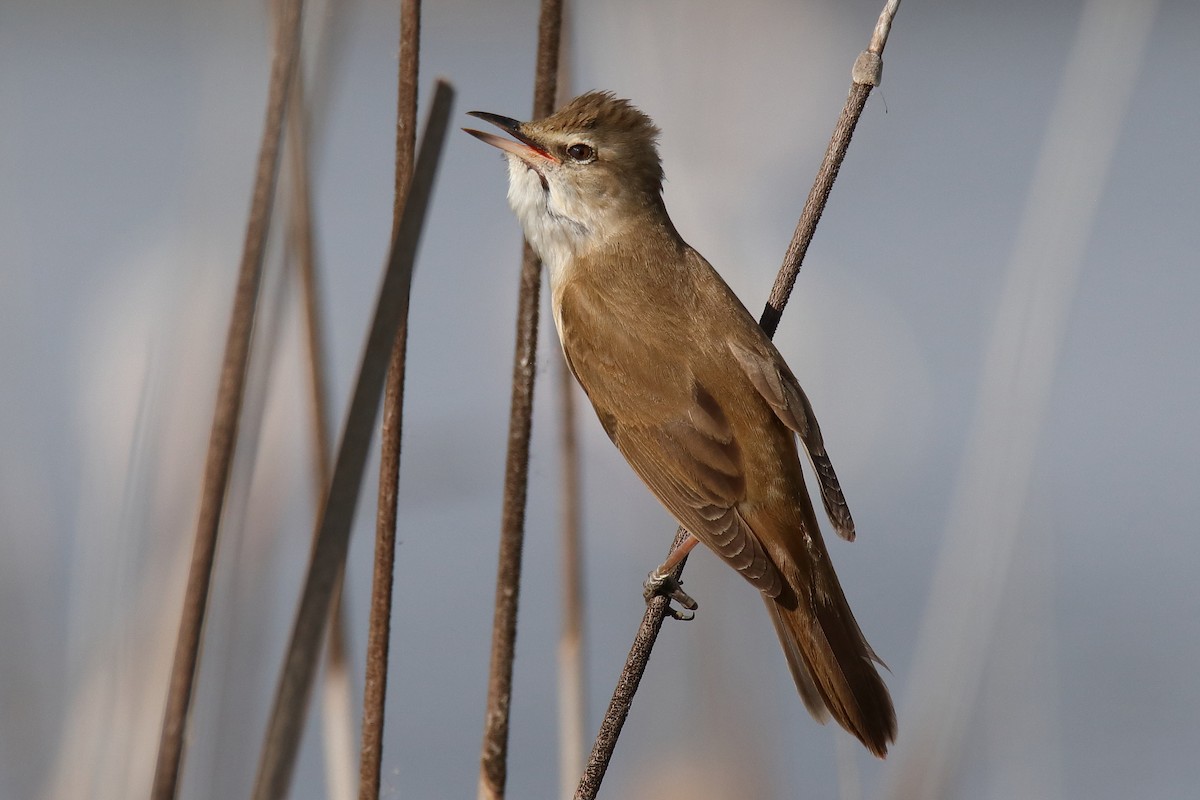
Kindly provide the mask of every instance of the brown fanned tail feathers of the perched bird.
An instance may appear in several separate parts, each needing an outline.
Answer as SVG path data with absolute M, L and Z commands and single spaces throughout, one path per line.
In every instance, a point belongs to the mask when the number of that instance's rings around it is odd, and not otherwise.
M 878 658 L 840 588 L 835 584 L 823 596 L 786 591 L 764 600 L 809 712 L 820 722 L 833 716 L 868 750 L 886 757 L 895 741 L 895 710 L 872 663 Z

